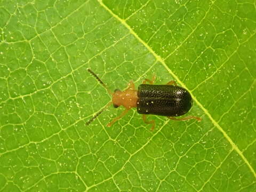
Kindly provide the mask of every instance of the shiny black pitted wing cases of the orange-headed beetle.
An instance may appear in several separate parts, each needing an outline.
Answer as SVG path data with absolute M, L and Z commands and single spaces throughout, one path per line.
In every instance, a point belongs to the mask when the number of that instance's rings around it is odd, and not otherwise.
M 190 93 L 180 86 L 141 84 L 138 87 L 139 114 L 181 116 L 188 113 L 192 105 Z

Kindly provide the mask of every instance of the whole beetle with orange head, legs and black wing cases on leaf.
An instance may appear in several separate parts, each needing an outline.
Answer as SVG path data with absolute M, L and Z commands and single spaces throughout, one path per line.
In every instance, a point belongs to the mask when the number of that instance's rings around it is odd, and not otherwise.
M 142 114 L 142 119 L 146 124 L 152 124 L 151 130 L 155 128 L 155 121 L 147 120 L 146 115 L 149 114 L 167 116 L 167 118 L 175 121 L 186 121 L 193 118 L 197 121 L 201 121 L 201 118 L 191 115 L 183 118 L 175 118 L 188 113 L 193 105 L 193 100 L 190 93 L 186 89 L 178 86 L 174 81 L 170 81 L 166 85 L 154 85 L 156 77 L 153 76 L 152 80 L 145 79 L 142 84 L 139 85 L 138 90 L 135 90 L 134 83 L 130 81 L 126 90 L 120 91 L 116 89 L 114 92 L 111 92 L 91 69 L 87 70 L 105 87 L 108 93 L 112 95 L 112 101 L 110 101 L 106 107 L 113 103 L 115 108 L 119 106 L 125 108 L 121 115 L 107 124 L 108 127 L 125 116 L 133 107 L 136 107 L 137 112 Z M 93 116 L 86 124 L 90 124 L 105 108 Z

